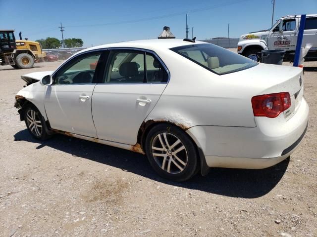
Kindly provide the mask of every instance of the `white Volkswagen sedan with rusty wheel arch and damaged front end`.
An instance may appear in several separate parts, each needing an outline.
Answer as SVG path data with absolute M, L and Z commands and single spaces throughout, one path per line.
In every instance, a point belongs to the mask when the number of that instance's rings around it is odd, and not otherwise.
M 184 181 L 289 157 L 308 124 L 302 75 L 195 40 L 119 42 L 21 76 L 15 106 L 37 139 L 62 133 L 146 154 L 159 175 Z

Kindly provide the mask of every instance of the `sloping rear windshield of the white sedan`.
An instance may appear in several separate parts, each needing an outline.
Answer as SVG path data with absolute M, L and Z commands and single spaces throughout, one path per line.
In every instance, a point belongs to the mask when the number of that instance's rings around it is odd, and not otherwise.
M 191 44 L 170 50 L 218 75 L 238 72 L 258 65 L 251 59 L 211 43 Z

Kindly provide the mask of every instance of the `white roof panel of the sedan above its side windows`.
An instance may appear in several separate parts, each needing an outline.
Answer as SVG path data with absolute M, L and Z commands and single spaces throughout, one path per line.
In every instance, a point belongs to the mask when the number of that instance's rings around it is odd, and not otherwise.
M 134 40 L 134 41 L 125 41 L 117 43 L 108 43 L 91 48 L 84 49 L 80 52 L 91 51 L 95 49 L 102 48 L 113 48 L 113 47 L 129 47 L 129 48 L 142 48 L 155 51 L 156 49 L 169 49 L 177 46 L 191 45 L 197 43 L 207 43 L 203 41 L 189 42 L 178 39 L 156 39 L 156 40 Z

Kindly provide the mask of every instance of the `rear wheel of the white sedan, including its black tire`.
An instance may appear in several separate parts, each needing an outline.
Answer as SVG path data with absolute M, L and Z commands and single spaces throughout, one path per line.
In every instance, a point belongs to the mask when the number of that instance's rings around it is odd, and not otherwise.
M 164 133 L 165 136 L 163 135 Z M 159 134 L 164 139 L 164 148 L 163 145 L 161 145 L 161 140 L 158 137 Z M 171 147 L 176 143 L 176 141 L 178 141 L 177 139 L 179 139 L 180 142 L 172 149 Z M 169 143 L 168 146 L 166 146 L 166 140 L 168 141 L 167 143 Z M 180 150 L 182 146 L 184 146 L 185 149 Z M 152 147 L 163 149 L 164 151 L 158 151 Z M 151 166 L 161 177 L 165 179 L 181 182 L 190 179 L 195 175 L 195 173 L 197 173 L 198 156 L 196 152 L 196 145 L 190 139 L 190 137 L 177 126 L 171 124 L 159 124 L 153 127 L 146 137 L 145 150 Z M 158 156 L 155 156 L 154 154 Z M 170 159 L 171 161 L 169 161 Z M 179 160 L 182 160 L 182 162 Z

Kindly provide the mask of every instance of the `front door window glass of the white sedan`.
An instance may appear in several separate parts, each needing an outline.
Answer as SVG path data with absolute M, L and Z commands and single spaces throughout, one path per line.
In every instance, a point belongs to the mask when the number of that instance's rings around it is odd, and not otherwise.
M 101 52 L 87 53 L 72 60 L 54 76 L 54 84 L 92 83 Z

